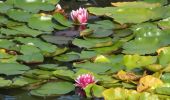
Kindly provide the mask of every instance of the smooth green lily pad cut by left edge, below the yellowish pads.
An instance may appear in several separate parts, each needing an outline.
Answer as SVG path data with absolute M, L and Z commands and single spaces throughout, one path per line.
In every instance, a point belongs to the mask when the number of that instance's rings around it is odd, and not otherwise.
M 0 63 L 0 69 L 0 74 L 17 75 L 28 71 L 30 68 L 17 63 Z

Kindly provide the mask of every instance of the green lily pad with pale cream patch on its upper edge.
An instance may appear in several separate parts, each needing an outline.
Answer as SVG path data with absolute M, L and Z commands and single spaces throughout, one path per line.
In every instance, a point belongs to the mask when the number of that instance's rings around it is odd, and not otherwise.
M 53 31 L 54 24 L 52 23 L 51 15 L 35 14 L 29 21 L 28 25 L 37 30 L 51 32 Z

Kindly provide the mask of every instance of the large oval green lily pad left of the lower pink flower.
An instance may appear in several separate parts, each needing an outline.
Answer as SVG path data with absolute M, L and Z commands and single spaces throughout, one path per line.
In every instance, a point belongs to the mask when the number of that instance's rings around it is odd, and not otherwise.
M 74 90 L 74 85 L 69 82 L 49 82 L 42 85 L 40 88 L 32 90 L 31 95 L 35 96 L 55 96 L 67 94 Z

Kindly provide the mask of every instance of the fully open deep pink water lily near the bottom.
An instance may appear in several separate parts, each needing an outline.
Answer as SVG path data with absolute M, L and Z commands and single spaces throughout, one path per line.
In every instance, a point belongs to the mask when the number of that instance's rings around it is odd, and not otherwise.
M 84 89 L 87 85 L 96 83 L 94 76 L 92 74 L 82 74 L 77 77 L 76 86 Z

